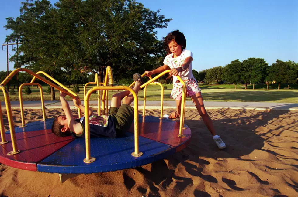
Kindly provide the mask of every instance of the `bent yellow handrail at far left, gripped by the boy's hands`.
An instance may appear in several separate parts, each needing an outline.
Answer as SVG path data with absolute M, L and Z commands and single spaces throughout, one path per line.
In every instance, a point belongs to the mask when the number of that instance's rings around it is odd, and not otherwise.
M 25 71 L 27 73 L 29 73 L 30 75 L 32 75 L 33 77 L 36 77 L 37 79 L 47 83 L 48 85 L 56 88 L 57 90 L 60 90 L 61 92 L 65 93 L 66 95 L 72 97 L 72 98 L 76 98 L 77 95 L 75 93 L 73 93 L 72 91 L 68 90 L 68 88 L 66 88 L 65 86 L 63 86 L 61 83 L 57 83 L 56 80 L 54 80 L 52 77 L 49 77 L 51 80 L 53 81 L 56 81 L 57 84 L 61 85 L 61 87 L 65 87 L 65 89 L 55 85 L 54 83 L 50 82 L 49 80 L 46 80 L 45 78 L 43 78 L 42 76 L 34 73 L 33 71 L 29 70 L 29 69 L 26 69 L 26 68 L 18 68 L 14 71 L 12 71 L 3 81 L 2 83 L 0 84 L 0 88 L 2 89 L 3 91 L 3 95 L 4 95 L 4 100 L 5 100 L 5 105 L 6 105 L 6 111 L 7 111 L 7 119 L 8 119 L 8 124 L 9 124 L 9 131 L 10 131 L 10 136 L 11 136 L 11 141 L 12 141 L 12 150 L 11 152 L 8 153 L 8 155 L 15 155 L 17 153 L 19 153 L 20 151 L 18 150 L 18 147 L 17 147 L 17 144 L 16 144 L 16 135 L 15 135 L 15 129 L 13 127 L 13 120 L 12 120 L 12 111 L 11 111 L 11 106 L 10 106 L 10 100 L 9 100 L 9 95 L 8 95 L 8 92 L 7 90 L 5 89 L 5 85 L 6 83 L 9 82 L 9 80 L 12 79 L 12 77 L 17 73 L 17 72 L 20 72 L 20 71 Z M 47 75 L 46 75 L 47 76 Z M 80 115 L 80 114 L 79 114 Z M 1 117 L 1 116 L 0 116 Z M 0 121 L 0 123 L 2 125 L 0 125 L 0 129 L 2 129 L 2 126 L 3 126 L 3 118 L 2 120 Z M 1 132 L 1 138 L 3 140 L 3 136 L 4 134 L 2 134 L 3 132 Z

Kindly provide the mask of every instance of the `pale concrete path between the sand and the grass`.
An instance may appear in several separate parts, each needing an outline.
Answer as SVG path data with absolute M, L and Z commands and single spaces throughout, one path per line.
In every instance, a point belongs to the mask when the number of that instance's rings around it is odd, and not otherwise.
M 72 109 L 76 108 L 72 101 L 68 102 Z M 61 108 L 60 101 L 45 101 L 47 109 Z M 91 100 L 89 102 L 91 107 L 97 108 L 97 101 Z M 41 109 L 40 101 L 24 101 L 25 109 Z M 110 101 L 109 101 L 110 105 Z M 146 101 L 146 109 L 160 109 L 160 101 Z M 204 102 L 206 109 L 247 109 L 247 110 L 298 110 L 298 103 L 271 103 L 271 102 Z M 1 102 L 2 109 L 5 109 L 5 102 Z M 175 101 L 164 101 L 163 108 L 176 108 Z M 19 101 L 11 101 L 11 107 L 20 108 Z M 194 104 L 191 101 L 186 101 L 185 108 L 195 109 Z M 143 109 L 143 100 L 139 101 L 139 109 Z

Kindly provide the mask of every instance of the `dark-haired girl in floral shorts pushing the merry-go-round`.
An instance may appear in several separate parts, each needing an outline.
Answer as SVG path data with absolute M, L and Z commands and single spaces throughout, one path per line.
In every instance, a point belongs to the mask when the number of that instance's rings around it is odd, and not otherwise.
M 183 33 L 179 30 L 169 33 L 164 40 L 164 47 L 167 51 L 167 56 L 164 60 L 164 65 L 152 71 L 145 71 L 146 76 L 151 76 L 156 73 L 161 73 L 165 70 L 170 70 L 170 76 L 173 76 L 173 90 L 171 98 L 176 100 L 177 111 L 172 112 L 170 115 L 164 117 L 175 119 L 180 117 L 181 100 L 182 100 L 182 83 L 176 77 L 177 75 L 185 82 L 187 87 L 186 96 L 191 97 L 192 102 L 195 104 L 200 116 L 202 117 L 205 125 L 213 136 L 213 141 L 219 149 L 226 148 L 226 144 L 216 134 L 211 118 L 206 112 L 201 96 L 201 89 L 198 87 L 196 79 L 192 75 L 192 52 L 185 50 L 186 39 Z

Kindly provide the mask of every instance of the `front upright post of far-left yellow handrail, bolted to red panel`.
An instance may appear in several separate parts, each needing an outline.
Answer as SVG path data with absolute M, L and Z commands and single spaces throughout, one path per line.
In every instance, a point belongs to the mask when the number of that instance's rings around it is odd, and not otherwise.
M 3 94 L 4 94 L 4 100 L 5 100 L 6 112 L 7 112 L 7 119 L 8 119 L 8 124 L 9 124 L 11 142 L 12 142 L 12 151 L 7 153 L 7 155 L 15 155 L 15 154 L 18 154 L 20 152 L 20 150 L 18 150 L 18 147 L 17 147 L 17 144 L 16 144 L 16 134 L 15 134 L 15 128 L 13 127 L 12 112 L 11 112 L 11 107 L 10 107 L 9 95 L 8 95 L 7 90 L 5 89 L 5 87 L 3 85 L 0 85 L 0 88 L 2 89 Z

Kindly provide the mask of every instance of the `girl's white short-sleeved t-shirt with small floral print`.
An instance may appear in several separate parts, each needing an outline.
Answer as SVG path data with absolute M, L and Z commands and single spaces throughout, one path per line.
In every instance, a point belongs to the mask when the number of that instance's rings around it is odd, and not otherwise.
M 179 66 L 181 66 L 184 62 L 184 60 L 187 57 L 192 57 L 192 52 L 189 50 L 185 50 L 183 49 L 182 53 L 180 54 L 180 56 L 173 58 L 173 53 L 165 56 L 165 60 L 164 60 L 164 64 L 169 66 L 170 69 L 172 68 L 178 68 Z M 192 57 L 193 58 L 193 57 Z M 185 71 L 182 71 L 181 73 L 178 74 L 181 79 L 191 79 L 193 78 L 192 75 L 192 63 L 189 64 L 188 69 L 186 69 Z M 177 81 L 177 77 L 173 76 L 173 83 L 175 83 Z

